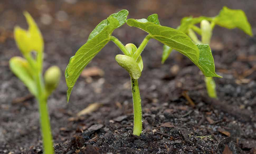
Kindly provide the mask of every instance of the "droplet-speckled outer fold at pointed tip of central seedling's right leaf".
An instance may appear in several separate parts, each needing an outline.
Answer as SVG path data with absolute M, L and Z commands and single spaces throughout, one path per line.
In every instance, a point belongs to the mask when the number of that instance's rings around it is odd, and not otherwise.
M 215 73 L 214 59 L 211 48 L 208 44 L 197 44 L 199 49 L 199 61 L 197 67 L 203 72 L 206 77 L 221 77 Z

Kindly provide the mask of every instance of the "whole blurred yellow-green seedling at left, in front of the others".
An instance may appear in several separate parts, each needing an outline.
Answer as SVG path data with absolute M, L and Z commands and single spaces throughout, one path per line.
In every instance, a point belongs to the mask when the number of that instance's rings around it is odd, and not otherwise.
M 54 153 L 50 120 L 47 109 L 47 98 L 57 87 L 60 80 L 60 69 L 52 66 L 42 76 L 44 41 L 40 30 L 29 13 L 24 12 L 28 30 L 19 26 L 14 29 L 14 38 L 23 57 L 12 57 L 10 68 L 20 78 L 29 91 L 35 96 L 39 105 L 41 134 L 44 152 Z M 34 54 L 34 55 L 33 55 Z

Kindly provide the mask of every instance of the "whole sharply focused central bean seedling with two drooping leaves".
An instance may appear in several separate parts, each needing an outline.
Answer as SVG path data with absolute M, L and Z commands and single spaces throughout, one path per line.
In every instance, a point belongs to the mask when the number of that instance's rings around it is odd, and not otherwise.
M 78 49 L 73 57 L 70 58 L 65 71 L 68 86 L 67 100 L 69 101 L 72 88 L 84 67 L 109 41 L 113 41 L 113 43 L 115 43 L 124 53 L 124 55 L 116 55 L 116 61 L 121 67 L 129 72 L 131 77 L 134 107 L 133 134 L 140 135 L 142 131 L 142 110 L 138 79 L 143 70 L 141 53 L 150 39 L 153 38 L 158 40 L 187 56 L 198 66 L 198 68 L 200 68 L 205 76 L 220 76 L 215 73 L 214 59 L 209 45 L 196 45 L 185 33 L 170 27 L 161 26 L 157 14 L 152 14 L 147 19 L 139 20 L 126 20 L 127 15 L 127 10 L 121 10 L 118 13 L 111 14 L 107 19 L 100 22 L 89 35 L 87 42 Z M 113 30 L 125 23 L 129 26 L 140 28 L 148 33 L 138 48 L 131 43 L 124 46 L 117 38 L 112 36 Z

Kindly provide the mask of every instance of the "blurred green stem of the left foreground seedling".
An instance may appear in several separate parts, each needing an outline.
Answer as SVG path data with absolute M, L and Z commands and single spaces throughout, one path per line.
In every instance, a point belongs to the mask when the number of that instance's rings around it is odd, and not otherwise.
M 35 77 L 37 85 L 37 95 L 36 99 L 39 106 L 40 114 L 40 125 L 41 134 L 43 139 L 44 153 L 53 154 L 53 138 L 51 135 L 51 125 L 49 120 L 48 108 L 47 108 L 47 97 L 45 93 L 45 87 L 42 80 L 41 72 L 38 72 Z

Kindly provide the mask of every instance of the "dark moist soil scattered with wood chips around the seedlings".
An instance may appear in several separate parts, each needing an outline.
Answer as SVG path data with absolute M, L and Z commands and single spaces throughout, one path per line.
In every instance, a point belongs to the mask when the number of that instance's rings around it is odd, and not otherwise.
M 44 36 L 44 70 L 57 65 L 64 74 L 90 31 L 120 9 L 137 19 L 158 13 L 162 25 L 176 27 L 184 16 L 214 16 L 224 5 L 243 9 L 256 33 L 254 0 L 1 1 L 0 153 L 43 153 L 37 102 L 8 67 L 21 55 L 12 31 L 17 24 L 27 27 L 23 10 Z M 146 33 L 124 25 L 113 35 L 139 46 Z M 110 42 L 88 64 L 69 103 L 64 75 L 48 99 L 55 153 L 256 153 L 256 37 L 216 27 L 211 49 L 223 76 L 214 78 L 218 99 L 207 96 L 203 75 L 188 58 L 173 51 L 162 65 L 162 44 L 149 41 L 139 79 L 143 132 L 135 136 L 129 74 Z M 90 104 L 90 113 L 77 116 Z

